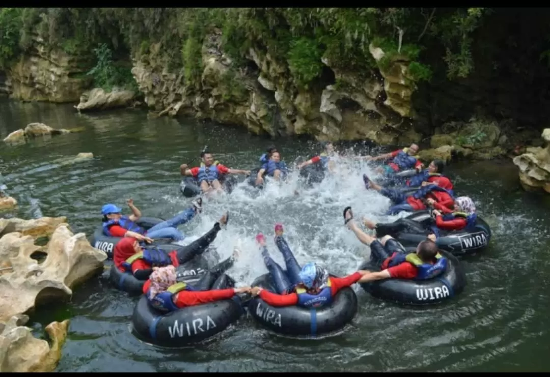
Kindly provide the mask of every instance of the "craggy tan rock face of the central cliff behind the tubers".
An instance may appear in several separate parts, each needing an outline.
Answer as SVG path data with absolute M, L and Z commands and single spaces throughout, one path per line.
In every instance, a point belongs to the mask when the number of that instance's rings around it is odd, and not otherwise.
M 303 90 L 292 81 L 288 64 L 269 53 L 252 48 L 249 64 L 235 69 L 220 46 L 221 32 L 206 38 L 199 90 L 185 86 L 184 69 L 166 68 L 160 45 L 136 57 L 132 73 L 147 106 L 159 115 L 195 115 L 271 136 L 310 134 L 318 140 L 369 138 L 380 143 L 420 138 L 408 121 L 414 82 L 405 60 L 365 77 L 331 68 L 324 59 L 322 84 Z M 377 60 L 384 54 L 374 46 L 371 53 Z

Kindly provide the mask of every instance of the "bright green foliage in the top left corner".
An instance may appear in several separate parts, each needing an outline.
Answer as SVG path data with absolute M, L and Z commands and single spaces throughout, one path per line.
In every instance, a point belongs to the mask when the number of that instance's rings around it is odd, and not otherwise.
M 21 8 L 0 8 L 0 68 L 19 54 Z

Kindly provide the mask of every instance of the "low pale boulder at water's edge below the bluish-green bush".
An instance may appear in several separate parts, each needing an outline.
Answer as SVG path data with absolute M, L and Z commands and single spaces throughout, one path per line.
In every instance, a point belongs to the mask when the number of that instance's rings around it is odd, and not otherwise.
M 112 91 L 106 92 L 102 88 L 93 88 L 80 96 L 80 103 L 75 106 L 75 109 L 81 112 L 128 107 L 134 98 L 135 92 L 132 90 L 113 88 Z

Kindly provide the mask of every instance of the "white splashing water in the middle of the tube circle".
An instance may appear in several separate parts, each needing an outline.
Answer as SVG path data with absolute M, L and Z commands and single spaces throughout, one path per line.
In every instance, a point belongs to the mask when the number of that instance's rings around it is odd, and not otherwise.
M 229 271 L 239 284 L 251 284 L 267 272 L 255 242 L 258 232 L 266 236 L 272 258 L 285 268 L 273 241 L 276 222 L 284 225 L 284 236 L 300 264 L 312 261 L 334 274 L 353 273 L 368 258 L 370 250 L 344 226 L 343 209 L 351 206 L 356 219 L 365 216 L 375 221 L 390 221 L 397 217 L 383 215 L 390 206 L 388 198 L 365 190 L 362 174 L 377 178 L 371 167 L 346 157 L 336 158 L 335 163 L 337 173 L 327 173 L 320 184 L 309 189 L 299 183 L 298 171 L 294 170 L 286 182 L 268 179 L 262 191 L 243 182 L 230 194 L 205 199 L 202 214 L 185 227 L 195 228 L 188 231 L 193 237 L 185 241 L 204 234 L 224 210 L 228 210 L 228 226 L 218 233 L 212 246 L 221 259 L 229 257 L 234 248 L 241 251 Z M 298 195 L 295 190 L 299 191 Z

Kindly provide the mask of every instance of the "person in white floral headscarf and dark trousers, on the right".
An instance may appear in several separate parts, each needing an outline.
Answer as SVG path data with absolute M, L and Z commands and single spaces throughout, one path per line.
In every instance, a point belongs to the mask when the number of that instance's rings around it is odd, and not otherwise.
M 433 238 L 439 237 L 440 230 L 474 230 L 477 220 L 476 206 L 474 201 L 467 196 L 459 196 L 454 201 L 454 212 L 442 214 L 439 210 L 432 211 L 434 216 L 434 224 L 430 225 L 427 231 L 433 233 Z M 396 236 L 400 232 L 410 231 L 416 233 L 416 229 L 412 229 L 406 219 L 398 219 L 393 223 L 375 223 L 372 220 L 363 219 L 363 223 L 368 229 L 376 229 L 376 236 L 382 237 L 385 235 Z

